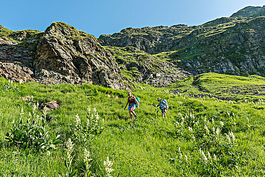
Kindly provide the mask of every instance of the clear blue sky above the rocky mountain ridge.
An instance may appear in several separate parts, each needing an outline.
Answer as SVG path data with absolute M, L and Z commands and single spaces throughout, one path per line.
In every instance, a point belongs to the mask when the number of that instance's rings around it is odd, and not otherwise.
M 200 25 L 246 6 L 263 5 L 264 0 L 3 0 L 0 24 L 44 31 L 52 22 L 63 21 L 99 37 L 127 27 Z

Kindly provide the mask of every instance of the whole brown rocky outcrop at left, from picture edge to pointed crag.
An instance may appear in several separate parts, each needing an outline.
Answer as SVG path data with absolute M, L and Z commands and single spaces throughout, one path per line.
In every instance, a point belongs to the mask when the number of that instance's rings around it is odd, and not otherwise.
M 113 56 L 93 35 L 63 22 L 45 32 L 1 27 L 0 76 L 40 83 L 94 83 L 130 89 Z

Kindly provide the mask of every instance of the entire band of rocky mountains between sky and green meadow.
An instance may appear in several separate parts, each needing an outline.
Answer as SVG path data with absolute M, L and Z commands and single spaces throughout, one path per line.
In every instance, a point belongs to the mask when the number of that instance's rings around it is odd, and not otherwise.
M 45 32 L 0 25 L 0 76 L 122 90 L 130 81 L 166 86 L 189 73 L 265 76 L 264 9 L 246 7 L 199 26 L 126 28 L 99 39 L 63 22 Z

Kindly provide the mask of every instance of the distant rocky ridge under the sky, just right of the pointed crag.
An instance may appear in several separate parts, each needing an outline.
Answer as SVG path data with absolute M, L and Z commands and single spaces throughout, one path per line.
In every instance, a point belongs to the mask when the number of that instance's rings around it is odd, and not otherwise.
M 174 41 L 178 40 L 175 36 L 186 35 L 193 30 L 194 27 L 187 25 L 126 28 L 112 35 L 101 35 L 99 42 L 103 46 L 135 47 L 149 54 L 156 54 L 171 49 Z

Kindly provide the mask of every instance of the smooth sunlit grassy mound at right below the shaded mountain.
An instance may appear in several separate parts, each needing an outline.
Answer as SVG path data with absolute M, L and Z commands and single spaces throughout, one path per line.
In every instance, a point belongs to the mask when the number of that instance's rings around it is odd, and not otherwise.
M 169 86 L 174 92 L 208 95 L 233 99 L 265 99 L 265 78 L 204 73 Z

